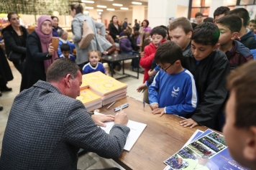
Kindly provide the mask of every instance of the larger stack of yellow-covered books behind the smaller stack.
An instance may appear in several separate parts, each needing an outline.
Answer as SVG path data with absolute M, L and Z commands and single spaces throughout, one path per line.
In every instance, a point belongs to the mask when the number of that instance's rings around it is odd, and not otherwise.
M 82 85 L 81 85 L 81 95 L 82 93 L 88 93 L 99 96 L 101 99 L 101 106 L 107 105 L 109 103 L 113 103 L 116 100 L 125 98 L 127 96 L 127 84 L 119 82 L 115 80 L 113 77 L 109 77 L 104 75 L 102 72 L 92 72 L 82 77 Z M 83 98 L 86 98 L 83 96 Z M 81 100 L 81 98 L 77 98 Z M 96 100 L 96 98 L 94 98 Z M 84 105 L 86 105 L 86 109 L 89 110 L 87 107 L 92 107 L 92 103 L 95 104 L 93 106 L 99 105 L 96 101 L 91 99 L 81 100 Z M 97 104 L 96 104 L 97 103 Z M 98 107 L 98 108 L 101 108 Z M 91 109 L 90 108 L 90 109 Z M 95 109 L 95 108 L 94 108 Z

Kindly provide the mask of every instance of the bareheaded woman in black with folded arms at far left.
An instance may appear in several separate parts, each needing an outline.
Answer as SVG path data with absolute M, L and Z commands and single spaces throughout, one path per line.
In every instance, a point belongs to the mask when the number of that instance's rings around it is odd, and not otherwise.
M 11 52 L 22 54 L 19 62 L 13 62 L 14 67 L 22 74 L 24 60 L 26 58 L 27 36 L 29 33 L 26 28 L 19 24 L 19 16 L 16 13 L 10 12 L 7 17 L 11 24 L 1 31 L 4 37 L 6 55 L 9 56 Z

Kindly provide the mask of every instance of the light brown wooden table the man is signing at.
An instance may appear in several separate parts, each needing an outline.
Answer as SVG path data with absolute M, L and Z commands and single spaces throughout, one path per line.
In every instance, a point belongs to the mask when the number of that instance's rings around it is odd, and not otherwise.
M 131 151 L 124 151 L 119 159 L 114 159 L 124 169 L 164 169 L 163 161 L 179 151 L 196 129 L 207 129 L 202 126 L 183 128 L 179 124 L 182 118 L 169 114 L 153 115 L 150 105 L 146 104 L 144 108 L 141 101 L 129 97 L 116 101 L 108 110 L 105 105 L 100 112 L 114 115 L 113 109 L 124 103 L 129 103 L 129 107 L 124 108 L 129 120 L 147 124 Z

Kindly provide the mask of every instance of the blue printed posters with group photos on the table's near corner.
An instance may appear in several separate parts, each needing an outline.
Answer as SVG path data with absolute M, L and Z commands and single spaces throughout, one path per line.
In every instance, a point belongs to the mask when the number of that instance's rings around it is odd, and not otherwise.
M 225 136 L 207 129 L 196 130 L 177 153 L 166 159 L 164 170 L 175 169 L 233 169 L 247 170 L 229 155 Z

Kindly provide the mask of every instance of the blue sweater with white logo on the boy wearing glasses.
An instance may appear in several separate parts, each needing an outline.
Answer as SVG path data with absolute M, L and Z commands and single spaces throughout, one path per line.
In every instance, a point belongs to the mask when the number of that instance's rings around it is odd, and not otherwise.
M 159 108 L 165 108 L 165 113 L 186 115 L 196 110 L 198 105 L 195 80 L 186 69 L 171 75 L 160 70 L 148 93 L 150 105 L 157 103 Z

